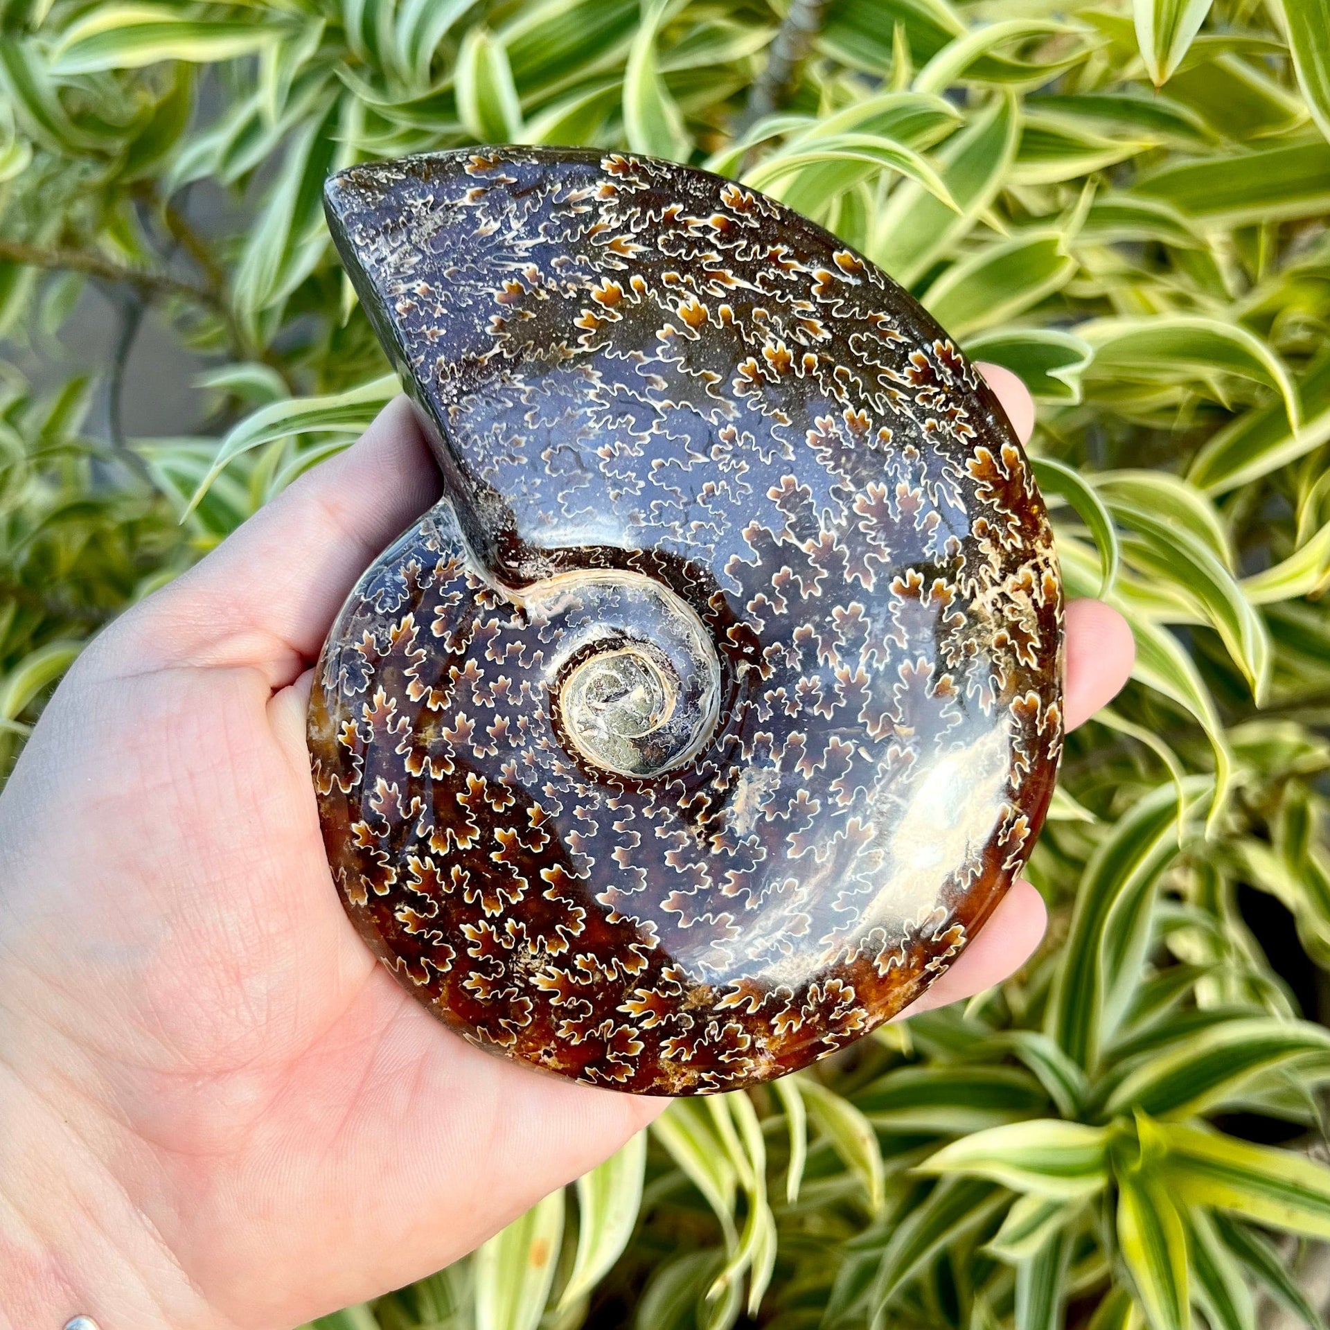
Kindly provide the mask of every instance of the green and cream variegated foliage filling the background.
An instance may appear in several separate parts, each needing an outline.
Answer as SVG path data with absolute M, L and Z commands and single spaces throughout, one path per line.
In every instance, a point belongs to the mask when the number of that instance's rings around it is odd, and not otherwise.
M 0 0 L 0 769 L 395 391 L 325 176 L 476 141 L 706 164 L 878 261 L 1029 383 L 1068 587 L 1136 633 L 1017 978 L 674 1105 L 325 1326 L 1323 1326 L 1327 133 L 1326 0 Z M 100 388 L 39 394 L 88 285 Z M 148 310 L 209 366 L 196 434 L 121 427 Z

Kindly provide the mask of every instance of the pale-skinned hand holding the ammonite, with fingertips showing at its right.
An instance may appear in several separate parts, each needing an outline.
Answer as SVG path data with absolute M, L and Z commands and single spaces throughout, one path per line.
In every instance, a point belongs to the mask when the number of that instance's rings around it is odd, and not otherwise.
M 1021 438 L 1033 404 L 986 367 Z M 310 666 L 436 495 L 404 400 L 108 628 L 0 797 L 0 1330 L 287 1330 L 436 1270 L 665 1105 L 447 1032 L 342 911 Z M 1132 664 L 1067 614 L 1067 718 Z M 1016 970 L 1017 883 L 915 1009 Z

